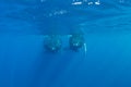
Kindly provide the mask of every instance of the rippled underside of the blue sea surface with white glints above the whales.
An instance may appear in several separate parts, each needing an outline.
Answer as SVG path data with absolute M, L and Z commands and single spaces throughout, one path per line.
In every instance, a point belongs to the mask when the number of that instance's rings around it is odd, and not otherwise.
M 1 0 L 1 32 L 58 34 L 130 30 L 130 0 Z M 61 30 L 64 29 L 64 33 Z

